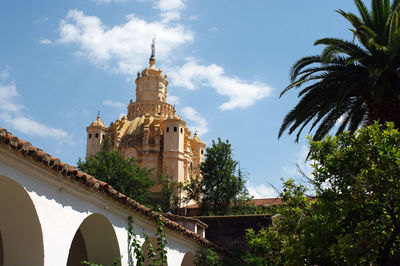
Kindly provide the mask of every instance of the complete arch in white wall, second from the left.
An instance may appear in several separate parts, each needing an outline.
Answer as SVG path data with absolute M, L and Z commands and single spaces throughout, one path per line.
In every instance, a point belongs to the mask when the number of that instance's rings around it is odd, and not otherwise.
M 112 224 L 103 215 L 95 213 L 88 216 L 76 231 L 69 249 L 67 266 L 81 265 L 80 262 L 84 260 L 111 265 L 120 256 Z

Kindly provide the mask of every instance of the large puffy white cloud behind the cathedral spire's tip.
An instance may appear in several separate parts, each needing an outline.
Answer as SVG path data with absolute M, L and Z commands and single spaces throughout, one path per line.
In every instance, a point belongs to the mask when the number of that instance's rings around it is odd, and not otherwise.
M 71 10 L 60 22 L 59 41 L 77 44 L 78 53 L 97 66 L 133 75 L 148 60 L 154 35 L 157 58 L 168 58 L 174 48 L 193 40 L 193 33 L 183 25 L 147 22 L 133 14 L 127 19 L 125 24 L 108 27 L 96 16 Z

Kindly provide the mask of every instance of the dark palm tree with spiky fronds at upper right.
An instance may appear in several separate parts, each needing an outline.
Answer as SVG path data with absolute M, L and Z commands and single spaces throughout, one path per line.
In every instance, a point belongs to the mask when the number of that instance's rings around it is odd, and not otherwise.
M 317 40 L 320 55 L 298 60 L 291 69 L 292 88 L 303 87 L 297 105 L 286 115 L 279 130 L 292 134 L 310 123 L 314 140 L 322 139 L 338 125 L 337 134 L 379 120 L 400 127 L 400 0 L 372 0 L 368 10 L 354 0 L 359 15 L 337 10 L 353 29 L 354 40 Z

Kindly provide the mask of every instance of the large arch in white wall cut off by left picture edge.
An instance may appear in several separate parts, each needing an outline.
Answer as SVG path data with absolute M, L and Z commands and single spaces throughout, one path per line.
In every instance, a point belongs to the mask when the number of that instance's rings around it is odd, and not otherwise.
M 43 234 L 35 206 L 16 181 L 0 176 L 0 265 L 43 265 Z

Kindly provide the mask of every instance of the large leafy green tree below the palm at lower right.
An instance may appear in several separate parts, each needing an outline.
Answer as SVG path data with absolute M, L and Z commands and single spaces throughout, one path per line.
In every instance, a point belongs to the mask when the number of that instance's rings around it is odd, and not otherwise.
M 285 182 L 274 226 L 249 231 L 249 261 L 387 265 L 400 254 L 400 133 L 393 123 L 310 141 L 315 199 Z M 393 264 L 394 265 L 394 264 Z

